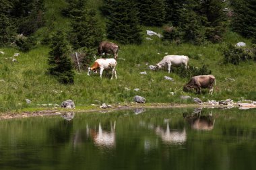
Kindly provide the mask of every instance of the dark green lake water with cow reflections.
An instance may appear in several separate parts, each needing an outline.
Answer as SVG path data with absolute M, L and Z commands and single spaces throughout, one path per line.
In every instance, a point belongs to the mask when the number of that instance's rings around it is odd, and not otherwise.
M 0 169 L 256 169 L 256 110 L 195 111 L 1 120 Z

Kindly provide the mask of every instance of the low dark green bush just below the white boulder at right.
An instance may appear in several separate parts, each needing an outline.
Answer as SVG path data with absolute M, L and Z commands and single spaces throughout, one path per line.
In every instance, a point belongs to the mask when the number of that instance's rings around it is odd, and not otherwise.
M 239 62 L 253 59 L 253 55 L 250 54 L 249 49 L 232 46 L 232 44 L 224 48 L 223 54 L 224 64 L 232 63 L 233 65 L 239 65 Z

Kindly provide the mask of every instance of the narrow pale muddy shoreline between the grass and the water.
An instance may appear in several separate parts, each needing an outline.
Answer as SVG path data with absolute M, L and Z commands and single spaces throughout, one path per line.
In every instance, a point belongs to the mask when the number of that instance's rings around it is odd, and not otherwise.
M 86 105 L 87 106 L 87 105 Z M 94 108 L 77 107 L 73 109 L 67 108 L 30 108 L 34 111 L 6 112 L 0 114 L 0 120 L 8 120 L 13 118 L 30 118 L 38 116 L 56 116 L 68 112 L 113 112 L 118 110 L 132 110 L 137 108 L 161 109 L 161 108 L 238 108 L 238 105 L 210 105 L 210 104 L 179 104 L 179 103 L 132 103 L 129 105 L 113 105 L 111 108 L 100 108 L 100 105 L 94 105 Z

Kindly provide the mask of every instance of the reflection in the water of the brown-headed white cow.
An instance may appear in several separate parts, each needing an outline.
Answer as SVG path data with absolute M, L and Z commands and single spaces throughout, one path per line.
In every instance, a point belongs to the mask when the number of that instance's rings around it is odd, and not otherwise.
M 114 122 L 114 125 L 110 123 L 110 132 L 102 130 L 101 124 L 98 126 L 98 132 L 94 129 L 90 129 L 90 136 L 92 136 L 94 143 L 98 146 L 115 146 L 115 126 L 116 122 Z

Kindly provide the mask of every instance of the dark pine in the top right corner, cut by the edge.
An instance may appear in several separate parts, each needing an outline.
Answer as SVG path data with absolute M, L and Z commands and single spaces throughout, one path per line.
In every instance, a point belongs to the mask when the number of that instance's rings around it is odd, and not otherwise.
M 232 28 L 242 36 L 252 38 L 256 43 L 256 1 L 255 0 L 233 0 L 231 1 L 234 16 Z

